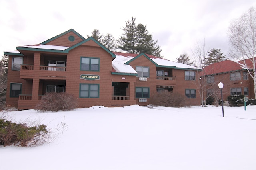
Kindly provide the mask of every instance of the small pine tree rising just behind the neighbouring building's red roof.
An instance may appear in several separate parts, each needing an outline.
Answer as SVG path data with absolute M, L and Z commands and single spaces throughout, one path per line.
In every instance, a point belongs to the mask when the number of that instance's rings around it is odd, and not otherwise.
M 205 65 L 210 65 L 213 63 L 217 63 L 220 61 L 226 60 L 226 56 L 221 53 L 220 49 L 211 49 L 210 51 L 207 52 L 208 57 L 204 57 L 205 59 Z

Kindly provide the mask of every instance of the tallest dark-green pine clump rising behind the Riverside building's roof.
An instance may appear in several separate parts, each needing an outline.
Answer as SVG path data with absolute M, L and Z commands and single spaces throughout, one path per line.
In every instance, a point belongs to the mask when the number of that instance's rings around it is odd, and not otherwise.
M 131 21 L 126 21 L 126 27 L 123 27 L 124 33 L 118 40 L 118 48 L 128 53 L 140 54 L 146 53 L 149 55 L 160 55 L 160 46 L 157 46 L 158 41 L 152 39 L 152 35 L 148 33 L 145 25 L 141 23 L 136 25 L 136 18 L 132 17 Z

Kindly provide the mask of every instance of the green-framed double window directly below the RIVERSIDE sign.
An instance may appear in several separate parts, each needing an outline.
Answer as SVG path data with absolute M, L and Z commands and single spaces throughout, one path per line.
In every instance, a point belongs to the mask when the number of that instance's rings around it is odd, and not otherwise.
M 80 98 L 98 98 L 99 84 L 80 84 Z

